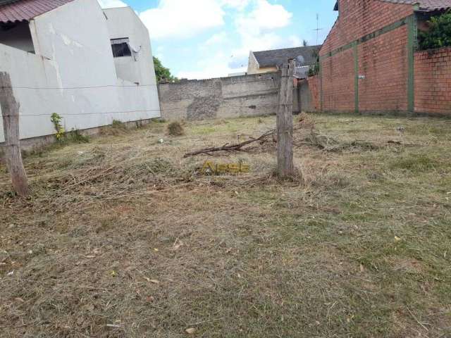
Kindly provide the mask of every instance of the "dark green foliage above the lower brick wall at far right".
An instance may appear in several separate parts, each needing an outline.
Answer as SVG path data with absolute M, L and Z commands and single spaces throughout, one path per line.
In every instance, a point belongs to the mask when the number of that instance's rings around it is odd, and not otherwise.
M 426 32 L 419 32 L 420 49 L 451 46 L 451 12 L 433 16 L 428 26 Z

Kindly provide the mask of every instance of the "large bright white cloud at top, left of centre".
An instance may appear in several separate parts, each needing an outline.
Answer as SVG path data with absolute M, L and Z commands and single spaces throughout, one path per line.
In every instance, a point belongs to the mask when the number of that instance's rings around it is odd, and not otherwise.
M 160 0 L 157 8 L 140 13 L 152 39 L 187 38 L 224 25 L 218 0 Z

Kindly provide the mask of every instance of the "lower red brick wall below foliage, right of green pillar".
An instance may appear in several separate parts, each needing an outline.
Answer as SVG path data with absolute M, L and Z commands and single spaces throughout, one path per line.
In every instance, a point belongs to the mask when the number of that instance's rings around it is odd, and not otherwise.
M 415 111 L 451 115 L 451 47 L 415 54 Z

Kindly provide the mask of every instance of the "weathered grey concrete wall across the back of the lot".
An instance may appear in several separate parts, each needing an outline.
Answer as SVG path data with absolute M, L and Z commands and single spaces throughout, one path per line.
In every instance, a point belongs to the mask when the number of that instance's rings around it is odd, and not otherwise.
M 264 73 L 159 84 L 161 115 L 167 120 L 203 120 L 275 114 L 279 83 L 279 73 Z M 309 106 L 307 85 L 293 93 L 294 113 Z

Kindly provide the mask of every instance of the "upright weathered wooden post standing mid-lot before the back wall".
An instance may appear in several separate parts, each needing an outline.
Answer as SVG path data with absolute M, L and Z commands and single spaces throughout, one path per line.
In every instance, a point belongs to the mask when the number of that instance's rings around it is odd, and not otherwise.
M 295 61 L 290 60 L 282 68 L 279 106 L 277 112 L 277 172 L 279 177 L 295 175 L 293 164 L 293 75 Z

